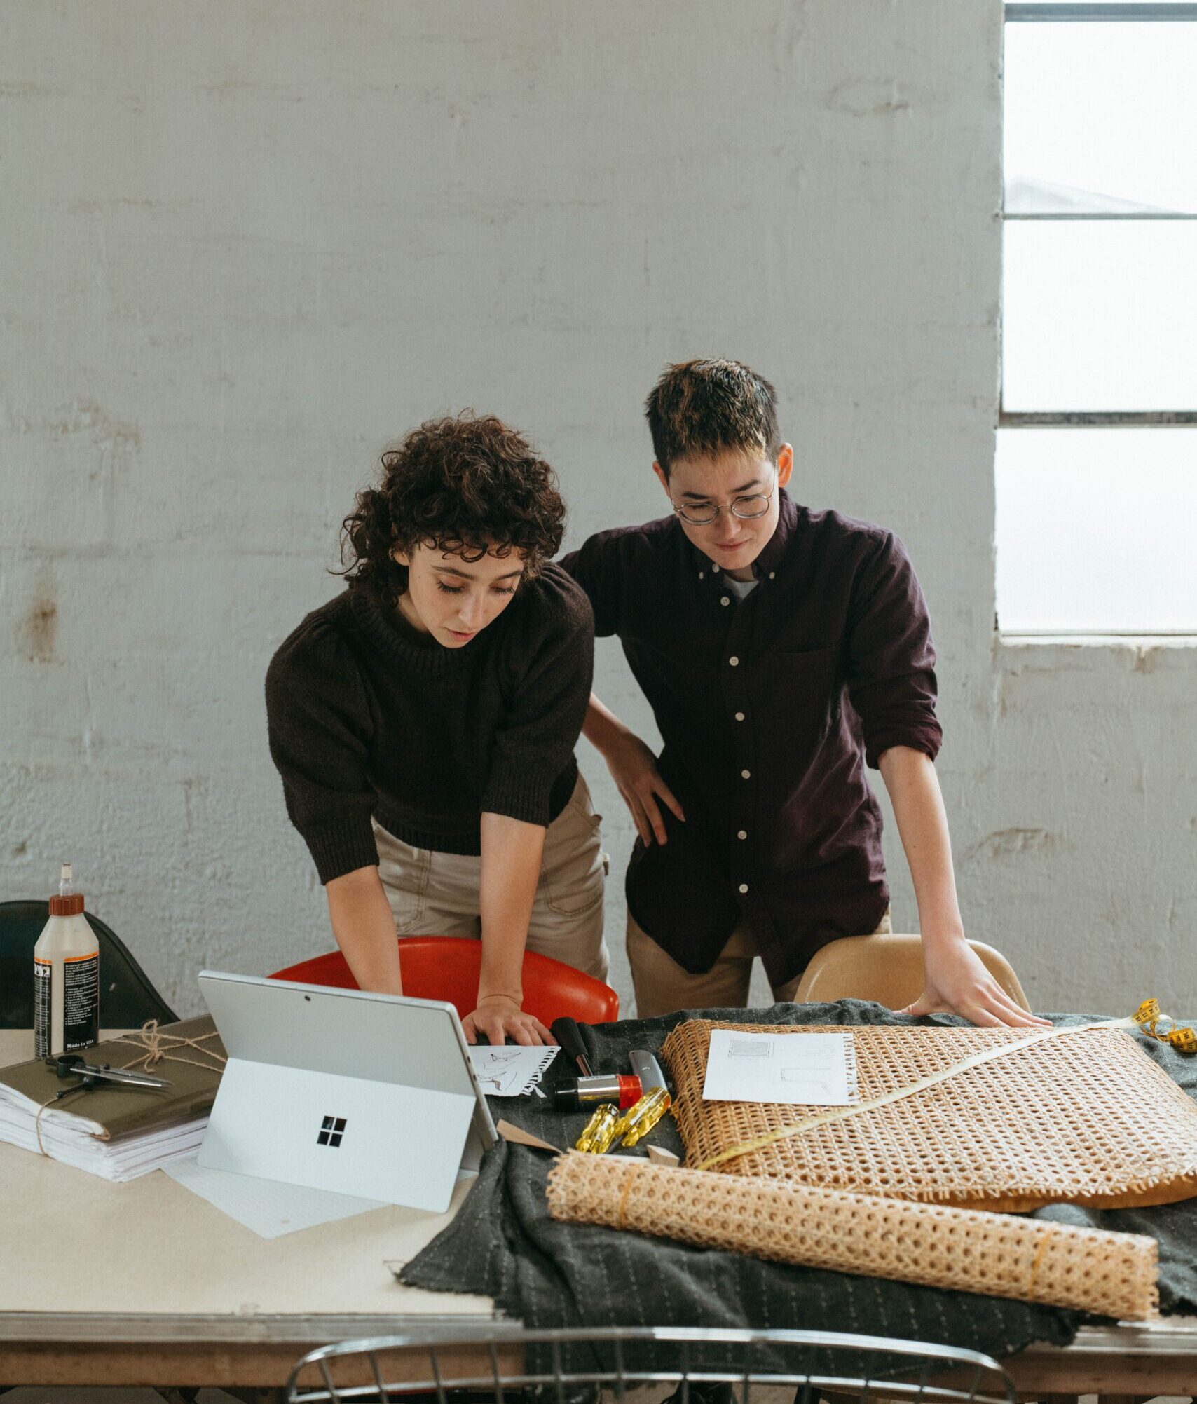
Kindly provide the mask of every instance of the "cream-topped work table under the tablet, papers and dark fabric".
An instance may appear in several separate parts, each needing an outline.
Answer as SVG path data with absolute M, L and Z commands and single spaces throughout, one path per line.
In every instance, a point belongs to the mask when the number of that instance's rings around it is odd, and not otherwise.
M 32 1054 L 0 1031 L 0 1064 Z M 0 1386 L 278 1387 L 307 1349 L 494 1320 L 487 1297 L 400 1286 L 452 1217 L 375 1209 L 262 1240 L 170 1177 L 123 1185 L 0 1144 Z M 796 1327 L 827 1323 L 796 1321 Z M 1197 1393 L 1197 1320 L 1085 1327 L 1008 1362 L 1020 1393 Z

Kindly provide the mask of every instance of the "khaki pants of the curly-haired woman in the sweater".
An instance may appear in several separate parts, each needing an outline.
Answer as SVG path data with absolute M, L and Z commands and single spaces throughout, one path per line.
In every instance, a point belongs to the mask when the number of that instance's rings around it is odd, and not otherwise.
M 528 924 L 528 951 L 606 979 L 602 893 L 606 855 L 587 782 L 544 833 L 540 882 Z M 413 848 L 375 824 L 379 876 L 400 936 L 481 938 L 481 858 Z

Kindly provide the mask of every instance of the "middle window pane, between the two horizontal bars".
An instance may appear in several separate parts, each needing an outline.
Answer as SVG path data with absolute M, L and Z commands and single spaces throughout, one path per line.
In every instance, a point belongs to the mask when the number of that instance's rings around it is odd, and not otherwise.
M 1005 227 L 1008 410 L 1197 409 L 1197 222 Z

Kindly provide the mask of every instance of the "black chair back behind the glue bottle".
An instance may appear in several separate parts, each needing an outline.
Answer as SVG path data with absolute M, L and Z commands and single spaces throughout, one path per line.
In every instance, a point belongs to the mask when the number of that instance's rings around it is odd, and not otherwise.
M 138 1029 L 146 1019 L 174 1024 L 178 1015 L 125 942 L 98 917 L 86 917 L 100 942 L 101 1028 Z M 34 1026 L 34 946 L 48 918 L 48 901 L 0 901 L 0 1029 Z

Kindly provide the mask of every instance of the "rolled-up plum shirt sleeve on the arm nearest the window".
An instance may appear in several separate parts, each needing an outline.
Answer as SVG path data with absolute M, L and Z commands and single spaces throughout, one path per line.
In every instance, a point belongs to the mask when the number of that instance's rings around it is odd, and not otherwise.
M 853 584 L 846 657 L 866 762 L 876 769 L 891 746 L 935 760 L 943 729 L 935 715 L 930 619 L 911 559 L 892 532 L 866 557 Z

